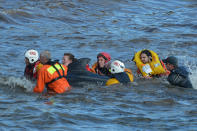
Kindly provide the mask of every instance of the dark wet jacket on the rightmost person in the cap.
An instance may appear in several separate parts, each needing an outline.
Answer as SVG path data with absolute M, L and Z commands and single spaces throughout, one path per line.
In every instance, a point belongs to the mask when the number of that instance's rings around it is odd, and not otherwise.
M 170 75 L 168 76 L 168 81 L 172 85 L 184 88 L 192 88 L 192 84 L 189 79 L 189 72 L 185 67 L 177 67 L 172 70 Z

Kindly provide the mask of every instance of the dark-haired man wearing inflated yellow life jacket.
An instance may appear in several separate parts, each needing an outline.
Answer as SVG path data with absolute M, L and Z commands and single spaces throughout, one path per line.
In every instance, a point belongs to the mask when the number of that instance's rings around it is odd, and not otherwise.
M 157 53 L 151 50 L 141 50 L 135 53 L 133 61 L 138 68 L 137 73 L 141 74 L 144 78 L 160 77 L 168 75 L 169 71 L 166 69 L 165 64 L 160 61 Z

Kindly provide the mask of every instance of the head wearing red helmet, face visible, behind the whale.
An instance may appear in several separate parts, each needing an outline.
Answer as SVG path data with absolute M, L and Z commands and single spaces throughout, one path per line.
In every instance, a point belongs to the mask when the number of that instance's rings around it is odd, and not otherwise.
M 110 60 L 111 56 L 106 52 L 101 52 L 97 55 L 97 62 L 100 68 L 103 68 Z

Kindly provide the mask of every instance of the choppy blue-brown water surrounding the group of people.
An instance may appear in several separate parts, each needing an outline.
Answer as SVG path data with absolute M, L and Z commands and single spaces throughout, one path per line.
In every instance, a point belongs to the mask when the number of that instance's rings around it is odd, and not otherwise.
M 90 57 L 109 52 L 131 62 L 152 49 L 176 55 L 197 81 L 195 0 L 0 0 L 1 130 L 196 130 L 197 92 L 164 79 L 122 86 L 82 85 L 44 98 L 23 76 L 24 52 L 49 50 Z

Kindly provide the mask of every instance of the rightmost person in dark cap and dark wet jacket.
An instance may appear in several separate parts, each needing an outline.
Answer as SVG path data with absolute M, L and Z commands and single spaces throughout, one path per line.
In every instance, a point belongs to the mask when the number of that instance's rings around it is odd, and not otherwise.
M 170 56 L 164 59 L 163 62 L 166 63 L 167 69 L 170 70 L 170 75 L 167 78 L 170 84 L 184 88 L 193 88 L 187 68 L 178 66 L 178 59 L 176 57 Z

